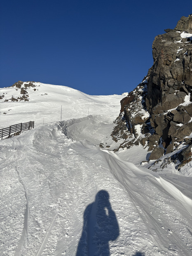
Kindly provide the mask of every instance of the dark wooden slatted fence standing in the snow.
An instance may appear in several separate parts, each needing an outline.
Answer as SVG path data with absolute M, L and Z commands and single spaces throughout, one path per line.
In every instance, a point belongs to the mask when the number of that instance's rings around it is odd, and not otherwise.
M 5 139 L 7 139 L 7 138 L 10 138 L 10 136 L 14 136 L 21 133 L 21 131 L 23 130 L 28 130 L 33 128 L 34 128 L 34 121 L 29 121 L 27 123 L 14 124 L 7 128 L 0 129 L 0 138 L 3 139 L 3 137 L 6 136 Z

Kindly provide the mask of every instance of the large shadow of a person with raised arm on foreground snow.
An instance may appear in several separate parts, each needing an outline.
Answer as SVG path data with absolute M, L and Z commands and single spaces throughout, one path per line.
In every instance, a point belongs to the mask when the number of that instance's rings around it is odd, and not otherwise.
M 119 236 L 119 225 L 109 202 L 109 194 L 100 190 L 95 202 L 84 211 L 84 225 L 76 256 L 109 256 L 109 241 Z

